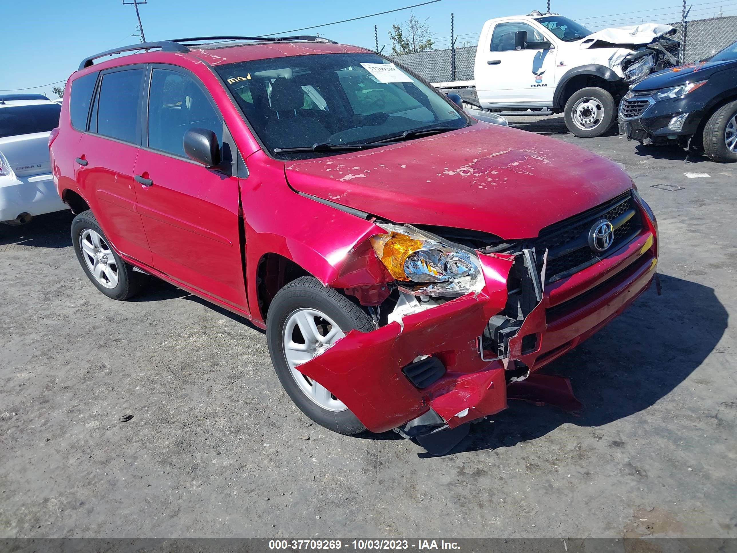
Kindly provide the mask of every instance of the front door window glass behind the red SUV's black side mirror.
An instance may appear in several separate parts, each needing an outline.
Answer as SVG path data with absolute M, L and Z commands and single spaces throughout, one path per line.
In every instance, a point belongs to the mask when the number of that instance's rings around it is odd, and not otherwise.
M 186 157 L 184 133 L 191 128 L 213 131 L 223 144 L 223 123 L 209 97 L 192 77 L 154 69 L 148 100 L 148 145 Z

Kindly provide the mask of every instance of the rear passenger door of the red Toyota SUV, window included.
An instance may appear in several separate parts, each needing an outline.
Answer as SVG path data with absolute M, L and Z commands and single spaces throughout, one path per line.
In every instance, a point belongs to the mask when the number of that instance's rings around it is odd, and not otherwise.
M 150 265 L 133 180 L 142 133 L 143 77 L 144 66 L 102 72 L 89 129 L 77 145 L 74 164 L 75 180 L 108 240 L 122 254 Z

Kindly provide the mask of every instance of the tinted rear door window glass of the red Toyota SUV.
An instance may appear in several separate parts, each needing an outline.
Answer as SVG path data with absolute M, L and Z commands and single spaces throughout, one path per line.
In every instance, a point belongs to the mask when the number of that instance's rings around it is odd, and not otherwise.
M 137 140 L 138 108 L 143 69 L 102 75 L 97 102 L 97 133 L 132 142 Z

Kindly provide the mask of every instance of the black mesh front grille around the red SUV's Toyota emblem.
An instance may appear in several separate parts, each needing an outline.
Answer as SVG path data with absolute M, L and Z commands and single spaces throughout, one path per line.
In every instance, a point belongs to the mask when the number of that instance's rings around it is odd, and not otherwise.
M 599 219 L 609 220 L 615 226 L 614 240 L 607 251 L 596 254 L 589 246 L 588 237 Z M 555 282 L 581 271 L 624 246 L 642 230 L 640 209 L 630 192 L 589 209 L 572 218 L 545 227 L 534 242 L 539 268 L 542 254 L 548 250 L 545 282 Z

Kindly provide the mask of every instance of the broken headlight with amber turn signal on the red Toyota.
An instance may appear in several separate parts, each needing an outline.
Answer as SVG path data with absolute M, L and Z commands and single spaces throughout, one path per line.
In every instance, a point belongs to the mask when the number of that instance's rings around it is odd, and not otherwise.
M 371 246 L 405 291 L 428 296 L 461 296 L 480 289 L 480 262 L 472 250 L 447 246 L 413 226 L 383 225 Z M 406 283 L 406 284 L 405 284 Z

